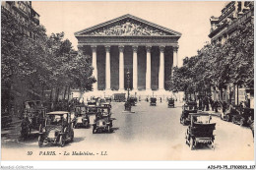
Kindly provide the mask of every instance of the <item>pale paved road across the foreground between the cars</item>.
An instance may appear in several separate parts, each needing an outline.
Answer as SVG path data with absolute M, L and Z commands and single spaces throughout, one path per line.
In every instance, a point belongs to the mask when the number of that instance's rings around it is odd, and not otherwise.
M 26 141 L 19 139 L 13 130 L 2 135 L 2 157 L 11 159 L 37 160 L 252 160 L 254 143 L 249 128 L 224 122 L 213 117 L 217 123 L 215 149 L 210 147 L 190 150 L 185 143 L 186 126 L 179 123 L 181 107 L 167 108 L 167 103 L 158 103 L 157 107 L 148 102 L 139 102 L 132 110 L 135 113 L 123 113 L 123 103 L 112 103 L 114 132 L 112 134 L 94 134 L 90 129 L 75 129 L 74 142 L 65 147 L 57 145 L 37 146 L 37 135 Z M 93 120 L 94 117 L 91 117 Z M 93 122 L 93 121 L 91 121 Z M 13 128 L 15 129 L 15 128 Z M 5 133 L 6 131 L 3 131 Z M 3 134 L 2 133 L 2 134 Z M 85 151 L 94 155 L 64 155 L 73 151 Z M 32 156 L 26 155 L 32 151 Z M 40 152 L 42 151 L 42 152 Z M 39 155 L 44 151 L 55 151 L 53 156 Z M 106 152 L 105 152 L 106 151 Z M 7 153 L 8 152 L 8 153 Z

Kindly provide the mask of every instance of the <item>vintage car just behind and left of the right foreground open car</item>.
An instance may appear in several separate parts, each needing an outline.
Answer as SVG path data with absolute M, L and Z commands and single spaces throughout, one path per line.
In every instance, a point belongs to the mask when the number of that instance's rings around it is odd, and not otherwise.
M 182 125 L 188 125 L 190 123 L 189 113 L 197 113 L 197 103 L 190 101 L 182 106 L 182 113 L 180 116 L 180 123 Z

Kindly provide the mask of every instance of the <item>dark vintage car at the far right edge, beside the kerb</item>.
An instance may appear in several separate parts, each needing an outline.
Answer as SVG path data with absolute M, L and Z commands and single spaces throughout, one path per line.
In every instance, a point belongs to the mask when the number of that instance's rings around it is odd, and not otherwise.
M 239 114 L 232 116 L 232 123 L 240 126 L 249 126 L 250 122 L 254 120 L 254 109 L 241 108 Z

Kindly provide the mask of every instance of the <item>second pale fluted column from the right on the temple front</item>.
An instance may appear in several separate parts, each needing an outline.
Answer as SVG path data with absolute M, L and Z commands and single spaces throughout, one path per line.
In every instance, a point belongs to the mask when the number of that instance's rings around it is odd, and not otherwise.
M 164 46 L 160 46 L 159 90 L 164 89 Z

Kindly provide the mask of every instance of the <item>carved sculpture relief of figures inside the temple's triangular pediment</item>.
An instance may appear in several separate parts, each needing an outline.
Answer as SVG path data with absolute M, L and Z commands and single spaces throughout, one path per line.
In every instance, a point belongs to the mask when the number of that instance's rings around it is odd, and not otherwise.
M 157 28 L 152 28 L 143 24 L 137 24 L 130 21 L 118 23 L 112 27 L 98 28 L 90 35 L 167 35 Z

